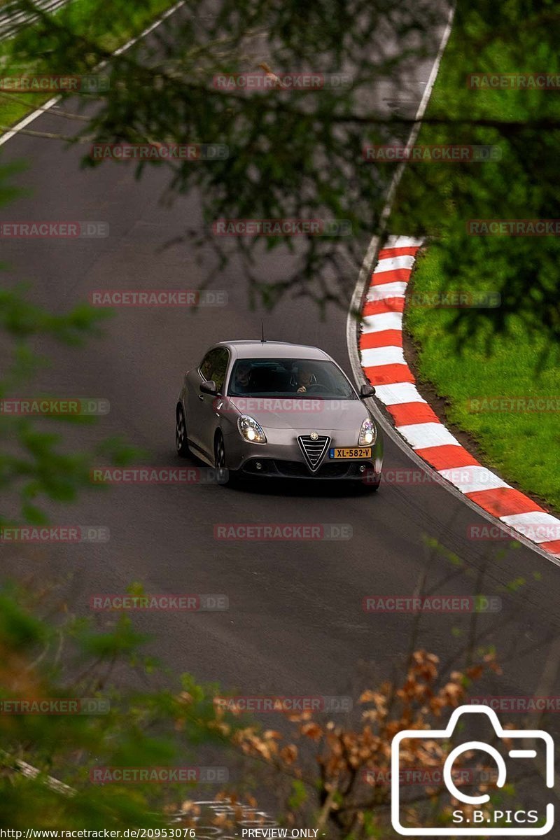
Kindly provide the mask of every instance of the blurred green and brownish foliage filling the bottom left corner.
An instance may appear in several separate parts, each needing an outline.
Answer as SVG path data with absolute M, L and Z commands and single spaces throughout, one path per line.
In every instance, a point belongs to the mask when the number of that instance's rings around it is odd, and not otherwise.
M 77 713 L 53 715 L 8 714 L 4 706 L 0 825 L 22 827 L 30 813 L 34 827 L 167 825 L 166 811 L 179 810 L 193 783 L 154 785 L 140 777 L 128 783 L 113 771 L 196 768 L 194 748 L 217 740 L 223 755 L 212 704 L 217 687 L 190 676 L 182 685 L 175 677 L 166 689 L 153 677 L 145 687 L 145 637 L 127 616 L 118 616 L 113 627 L 69 613 L 47 622 L 39 615 L 50 610 L 53 597 L 15 587 L 0 591 L 0 699 L 79 704 Z M 154 661 L 146 661 L 154 669 Z M 39 769 L 37 779 L 18 770 L 18 759 Z M 71 790 L 60 792 L 50 777 Z

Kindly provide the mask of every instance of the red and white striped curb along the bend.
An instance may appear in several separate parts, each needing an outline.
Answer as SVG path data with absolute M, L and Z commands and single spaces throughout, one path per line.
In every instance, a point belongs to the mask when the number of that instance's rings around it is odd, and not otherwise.
M 402 347 L 406 285 L 421 239 L 391 236 L 379 251 L 362 307 L 362 369 L 393 417 L 396 430 L 417 455 L 464 496 L 512 532 L 560 558 L 560 520 L 479 464 L 416 389 Z

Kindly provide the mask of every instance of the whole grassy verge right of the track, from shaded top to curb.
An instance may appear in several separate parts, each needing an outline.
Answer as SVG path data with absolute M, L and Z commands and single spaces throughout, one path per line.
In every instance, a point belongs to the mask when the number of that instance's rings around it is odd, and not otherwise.
M 558 118 L 557 91 L 481 91 L 467 84 L 475 72 L 558 72 L 557 24 L 539 6 L 532 25 L 516 25 L 524 13 L 516 2 L 500 13 L 476 0 L 460 6 L 427 112 L 428 119 L 445 115 L 457 123 L 426 123 L 418 142 L 495 144 L 501 158 L 409 164 L 390 231 L 432 235 L 405 320 L 420 389 L 442 397 L 443 419 L 471 435 L 486 465 L 560 511 L 560 357 L 549 329 L 557 318 L 558 237 L 468 233 L 469 219 L 560 218 L 550 157 L 557 133 L 542 126 L 504 132 L 461 119 Z M 430 305 L 442 291 L 497 294 L 501 302 L 461 312 Z M 550 307 L 543 305 L 548 300 Z M 501 397 L 513 402 L 488 402 Z M 535 402 L 539 397 L 556 399 Z

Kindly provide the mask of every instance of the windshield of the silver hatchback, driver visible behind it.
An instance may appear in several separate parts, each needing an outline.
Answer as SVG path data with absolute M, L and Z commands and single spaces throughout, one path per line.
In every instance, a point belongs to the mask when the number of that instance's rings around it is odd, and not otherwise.
M 337 365 L 315 359 L 238 359 L 229 378 L 228 396 L 358 399 Z

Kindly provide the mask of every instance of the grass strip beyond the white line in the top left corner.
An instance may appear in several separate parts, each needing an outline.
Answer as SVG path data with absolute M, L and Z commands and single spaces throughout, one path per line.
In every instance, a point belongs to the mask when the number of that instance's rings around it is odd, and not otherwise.
M 90 42 L 96 43 L 102 50 L 113 52 L 140 34 L 152 20 L 174 4 L 175 0 L 142 0 L 140 3 L 116 0 L 111 3 L 110 15 L 107 15 L 104 0 L 73 0 L 52 17 L 71 31 L 85 34 Z M 13 39 L 0 42 L 0 67 L 5 76 L 72 74 L 69 67 L 57 70 L 50 66 L 48 55 L 41 54 L 40 40 L 37 43 L 33 27 L 24 29 Z M 0 126 L 8 127 L 18 123 L 54 95 L 0 91 Z

